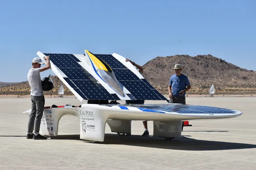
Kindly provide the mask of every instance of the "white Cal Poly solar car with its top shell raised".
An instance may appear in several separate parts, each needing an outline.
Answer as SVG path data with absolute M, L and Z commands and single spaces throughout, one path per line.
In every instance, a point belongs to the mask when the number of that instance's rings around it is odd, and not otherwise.
M 51 70 L 82 100 L 167 100 L 138 70 L 119 54 L 48 54 L 37 52 L 44 60 L 50 56 Z M 24 112 L 29 115 L 30 110 Z M 167 140 L 181 136 L 182 121 L 241 116 L 236 110 L 188 104 L 82 104 L 80 107 L 45 107 L 40 134 L 57 136 L 64 115 L 80 120 L 80 138 L 104 141 L 105 124 L 112 132 L 131 133 L 132 120 L 153 121 L 153 136 Z M 51 116 L 45 118 L 47 116 Z M 49 124 L 51 125 L 49 125 Z

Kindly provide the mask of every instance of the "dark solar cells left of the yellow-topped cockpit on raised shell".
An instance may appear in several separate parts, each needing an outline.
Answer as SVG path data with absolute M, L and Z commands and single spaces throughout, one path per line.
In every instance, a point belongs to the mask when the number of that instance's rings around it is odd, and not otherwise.
M 84 100 L 120 100 L 116 94 L 110 94 L 100 83 L 97 83 L 78 63 L 81 62 L 73 54 L 46 54 L 52 63 L 66 76 L 64 80 Z

